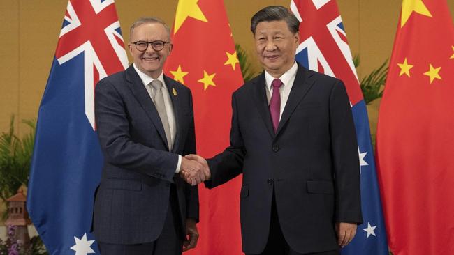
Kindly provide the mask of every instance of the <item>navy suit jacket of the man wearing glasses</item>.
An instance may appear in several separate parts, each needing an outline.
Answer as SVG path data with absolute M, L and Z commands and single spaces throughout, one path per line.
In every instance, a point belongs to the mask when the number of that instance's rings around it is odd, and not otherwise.
M 94 203 L 93 226 L 99 242 L 156 240 L 166 219 L 170 183 L 176 185 L 181 226 L 186 218 L 198 220 L 197 187 L 174 178 L 177 154 L 196 152 L 192 95 L 173 79 L 164 80 L 177 123 L 172 152 L 154 103 L 132 65 L 96 85 L 96 127 L 104 155 Z

